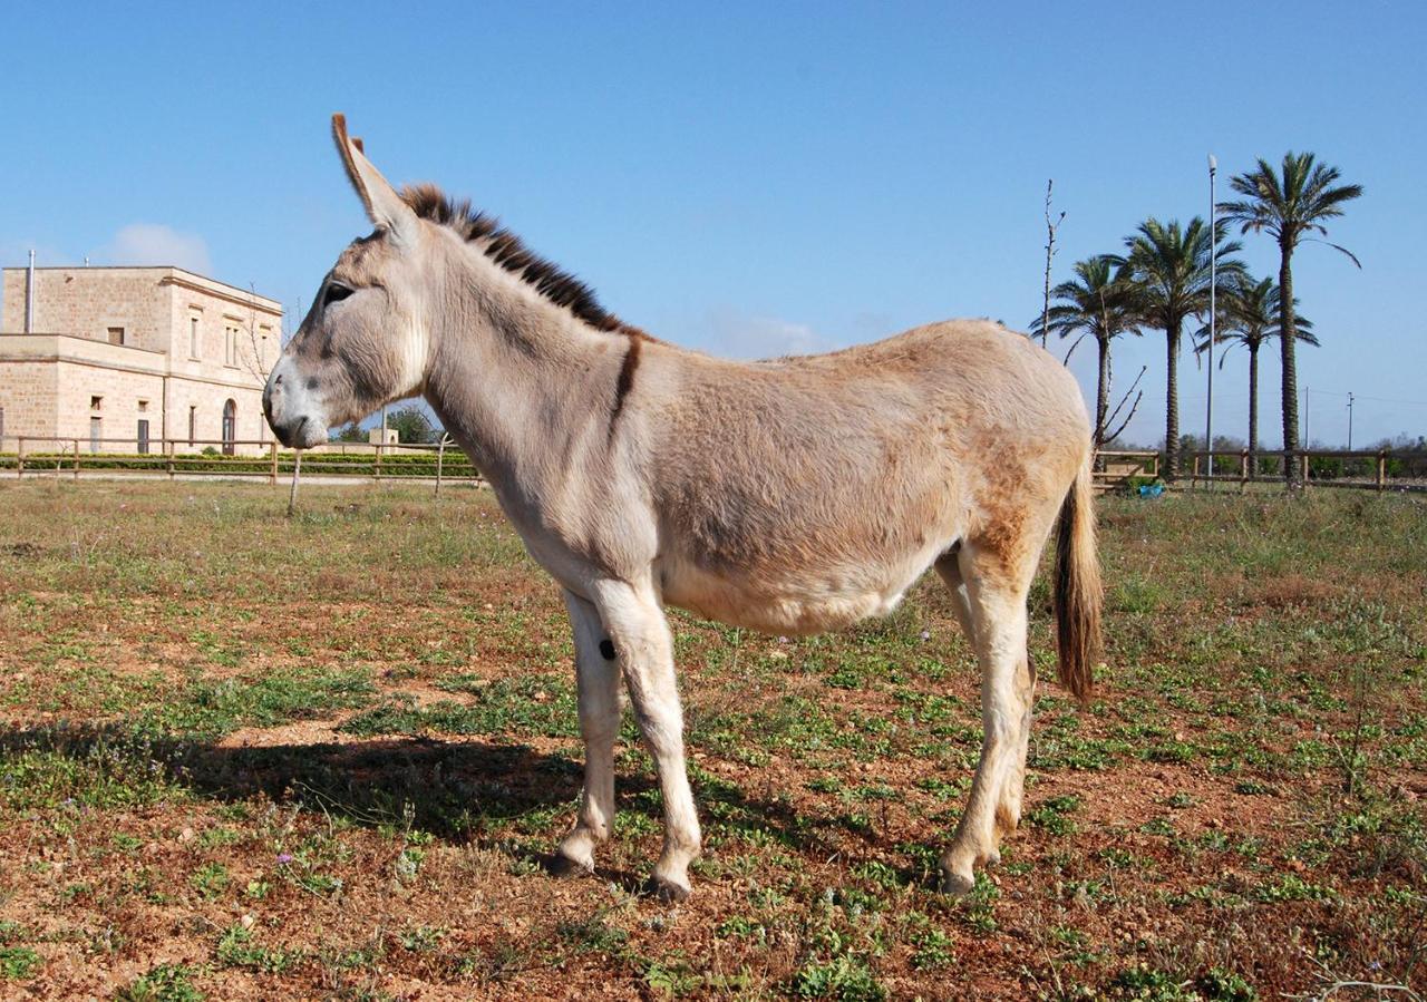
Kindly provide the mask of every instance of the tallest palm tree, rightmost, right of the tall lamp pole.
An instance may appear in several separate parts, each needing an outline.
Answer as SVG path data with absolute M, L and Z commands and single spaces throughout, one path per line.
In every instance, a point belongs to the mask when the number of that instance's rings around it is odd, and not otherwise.
M 1283 303 L 1283 335 L 1279 338 L 1283 351 L 1283 467 L 1289 490 L 1301 485 L 1301 472 L 1296 462 L 1299 451 L 1299 368 L 1296 345 L 1299 325 L 1293 297 L 1293 251 L 1299 241 L 1326 236 L 1324 220 L 1343 214 L 1343 204 L 1363 194 L 1360 184 L 1337 184 L 1337 167 L 1314 163 L 1311 153 L 1283 154 L 1283 173 L 1274 174 L 1267 160 L 1260 157 L 1259 167 L 1247 174 L 1239 174 L 1229 183 L 1234 191 L 1244 196 L 1243 201 L 1226 201 L 1219 206 L 1226 223 L 1240 224 L 1240 233 L 1267 230 L 1279 241 L 1279 288 Z M 1327 243 L 1327 241 L 1323 241 Z M 1363 267 L 1351 251 L 1337 244 L 1329 244 Z

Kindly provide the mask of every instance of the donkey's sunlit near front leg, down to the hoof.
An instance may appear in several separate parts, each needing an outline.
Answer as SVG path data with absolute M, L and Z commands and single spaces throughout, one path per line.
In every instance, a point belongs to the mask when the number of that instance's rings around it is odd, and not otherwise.
M 674 638 L 654 589 L 624 581 L 595 587 L 595 602 L 629 687 L 629 702 L 659 769 L 664 852 L 654 891 L 665 901 L 689 895 L 689 864 L 699 855 L 699 818 L 684 762 L 684 714 L 674 678 Z

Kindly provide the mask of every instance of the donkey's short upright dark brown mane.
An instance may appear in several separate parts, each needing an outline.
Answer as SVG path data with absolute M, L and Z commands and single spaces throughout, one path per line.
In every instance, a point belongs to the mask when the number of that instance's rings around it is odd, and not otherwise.
M 417 216 L 455 230 L 462 240 L 475 244 L 495 264 L 521 278 L 551 303 L 568 308 L 591 327 L 631 337 L 648 337 L 599 305 L 589 285 L 529 250 L 497 218 L 472 208 L 468 200 L 455 201 L 434 184 L 410 184 L 401 190 L 401 198 Z

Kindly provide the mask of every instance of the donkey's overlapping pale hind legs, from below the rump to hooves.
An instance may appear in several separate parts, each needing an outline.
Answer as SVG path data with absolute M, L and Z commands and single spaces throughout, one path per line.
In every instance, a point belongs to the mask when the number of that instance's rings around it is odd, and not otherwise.
M 1035 692 L 1026 651 L 1026 597 L 1039 548 L 1017 555 L 1007 561 L 1003 551 L 966 544 L 955 567 L 938 564 L 982 669 L 980 762 L 966 811 L 942 856 L 942 888 L 952 894 L 972 889 L 976 866 L 1000 861 L 997 841 L 1020 821 Z

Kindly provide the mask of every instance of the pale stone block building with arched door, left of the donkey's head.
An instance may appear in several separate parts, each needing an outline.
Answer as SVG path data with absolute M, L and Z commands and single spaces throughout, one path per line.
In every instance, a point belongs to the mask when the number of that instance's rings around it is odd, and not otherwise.
M 4 268 L 0 451 L 258 452 L 281 340 L 280 303 L 183 268 Z

